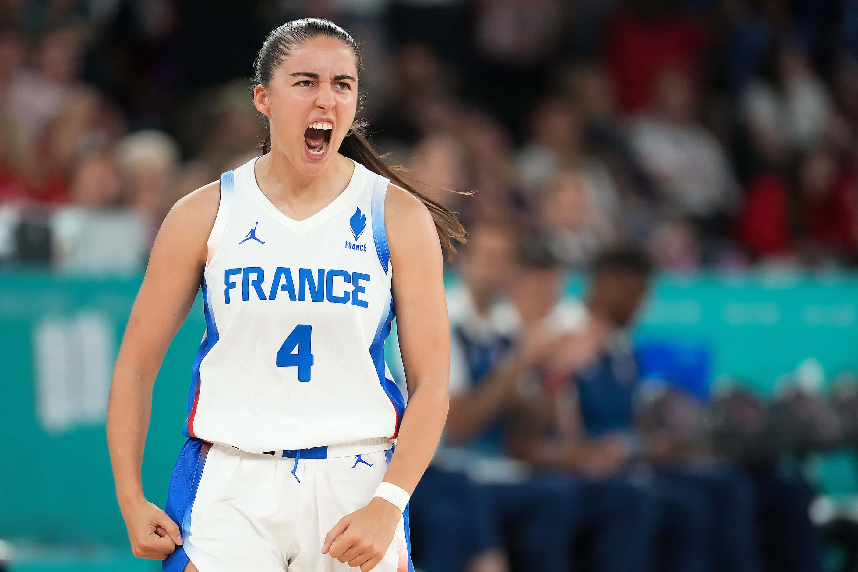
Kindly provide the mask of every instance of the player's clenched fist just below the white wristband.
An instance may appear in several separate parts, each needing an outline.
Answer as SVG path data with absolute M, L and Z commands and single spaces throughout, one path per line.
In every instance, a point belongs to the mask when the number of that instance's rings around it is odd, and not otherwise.
M 363 509 L 343 516 L 324 537 L 322 554 L 369 572 L 393 542 L 402 513 L 384 498 L 372 497 Z

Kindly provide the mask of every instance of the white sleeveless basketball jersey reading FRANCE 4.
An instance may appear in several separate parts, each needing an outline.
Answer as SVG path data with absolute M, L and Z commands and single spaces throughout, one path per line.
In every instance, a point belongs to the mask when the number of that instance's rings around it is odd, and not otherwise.
M 395 438 L 389 181 L 355 163 L 340 196 L 293 220 L 259 189 L 255 163 L 221 177 L 185 435 L 250 452 Z

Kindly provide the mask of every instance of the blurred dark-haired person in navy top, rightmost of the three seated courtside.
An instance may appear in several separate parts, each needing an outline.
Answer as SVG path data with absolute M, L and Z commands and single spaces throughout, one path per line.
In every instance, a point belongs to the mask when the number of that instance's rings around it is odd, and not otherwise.
M 659 542 L 653 546 L 661 548 L 662 569 L 756 571 L 751 484 L 730 467 L 692 463 L 684 437 L 644 440 L 637 431 L 639 380 L 627 328 L 648 292 L 650 268 L 643 254 L 629 249 L 607 250 L 593 264 L 585 308 L 571 326 L 575 342 L 543 372 L 547 392 L 559 400 L 555 428 L 566 451 L 559 458 L 568 469 L 598 470 L 611 477 L 606 483 L 658 503 Z M 556 463 L 547 443 L 530 437 L 519 452 Z M 569 462 L 575 459 L 581 461 Z M 642 473 L 637 463 L 644 460 L 657 473 Z M 600 503 L 593 510 L 604 508 Z

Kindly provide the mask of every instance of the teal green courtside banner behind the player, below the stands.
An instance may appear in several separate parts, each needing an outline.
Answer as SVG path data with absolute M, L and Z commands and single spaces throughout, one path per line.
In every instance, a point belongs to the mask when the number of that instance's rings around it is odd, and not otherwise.
M 105 437 L 112 365 L 140 276 L 0 274 L 0 538 L 127 543 Z M 570 292 L 581 292 L 571 280 Z M 858 278 L 663 278 L 641 340 L 701 343 L 711 376 L 761 390 L 806 358 L 858 369 Z M 154 386 L 143 486 L 163 506 L 181 449 L 190 369 L 205 323 L 197 300 Z

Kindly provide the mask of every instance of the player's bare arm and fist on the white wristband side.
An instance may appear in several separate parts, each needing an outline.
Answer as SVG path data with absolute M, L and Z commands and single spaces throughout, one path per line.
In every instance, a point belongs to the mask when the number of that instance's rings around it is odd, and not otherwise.
M 408 380 L 408 407 L 384 480 L 411 494 L 432 460 L 447 418 L 450 326 L 432 215 L 394 185 L 388 188 L 384 211 L 399 346 Z M 366 507 L 336 523 L 324 539 L 322 553 L 367 572 L 384 556 L 400 519 L 402 513 L 393 503 L 373 497 Z

